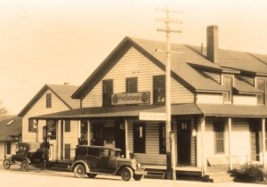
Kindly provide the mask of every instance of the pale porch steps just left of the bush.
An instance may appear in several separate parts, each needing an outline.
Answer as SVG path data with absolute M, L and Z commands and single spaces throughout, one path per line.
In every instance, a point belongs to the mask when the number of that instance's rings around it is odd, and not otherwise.
M 218 182 L 230 182 L 234 180 L 234 177 L 228 173 L 228 166 L 214 166 L 208 167 L 204 179 L 207 182 L 218 183 Z

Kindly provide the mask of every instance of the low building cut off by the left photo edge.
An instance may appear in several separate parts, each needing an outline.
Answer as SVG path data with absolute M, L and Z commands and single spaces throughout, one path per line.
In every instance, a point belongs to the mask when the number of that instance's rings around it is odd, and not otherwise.
M 0 116 L 0 159 L 12 155 L 21 141 L 21 118 L 13 115 Z

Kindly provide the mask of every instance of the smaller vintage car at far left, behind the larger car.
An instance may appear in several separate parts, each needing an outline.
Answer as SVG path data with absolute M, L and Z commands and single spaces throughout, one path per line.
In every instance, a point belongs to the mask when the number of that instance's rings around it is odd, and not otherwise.
M 11 165 L 20 162 L 22 171 L 28 171 L 31 166 L 43 166 L 43 150 L 40 142 L 19 142 L 16 154 L 3 161 L 4 169 L 9 169 Z

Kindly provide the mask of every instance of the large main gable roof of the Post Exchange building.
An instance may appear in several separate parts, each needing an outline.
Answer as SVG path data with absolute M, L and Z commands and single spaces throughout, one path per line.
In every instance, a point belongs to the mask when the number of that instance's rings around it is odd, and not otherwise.
M 255 75 L 267 75 L 267 55 L 254 55 L 251 53 L 235 52 L 230 50 L 219 50 L 218 63 L 208 61 L 206 58 L 206 48 L 200 51 L 200 47 L 193 45 L 171 44 L 172 49 L 182 52 L 182 54 L 173 53 L 171 55 L 172 77 L 180 81 L 192 92 L 213 92 L 222 93 L 227 89 L 216 83 L 212 78 L 199 73 L 197 68 L 213 69 L 216 72 L 227 73 L 249 73 Z M 150 61 L 154 62 L 160 69 L 165 70 L 166 53 L 158 53 L 156 49 L 166 49 L 165 42 L 152 41 L 141 38 L 125 37 L 119 45 L 109 54 L 101 65 L 93 71 L 83 85 L 81 85 L 72 98 L 79 99 L 85 97 L 93 86 L 111 69 L 117 61 L 127 52 L 130 47 L 134 47 Z M 246 82 L 239 81 L 238 90 L 247 91 L 253 86 Z M 242 82 L 242 83 L 241 83 Z M 258 93 L 253 88 L 248 93 Z

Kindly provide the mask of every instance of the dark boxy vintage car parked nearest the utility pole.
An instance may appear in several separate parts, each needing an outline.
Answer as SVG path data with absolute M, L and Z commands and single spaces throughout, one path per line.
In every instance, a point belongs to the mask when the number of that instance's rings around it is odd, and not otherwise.
M 124 181 L 142 180 L 145 172 L 136 159 L 125 159 L 122 151 L 117 148 L 104 146 L 78 145 L 76 155 L 71 166 L 74 175 L 82 178 L 87 175 L 120 175 Z

